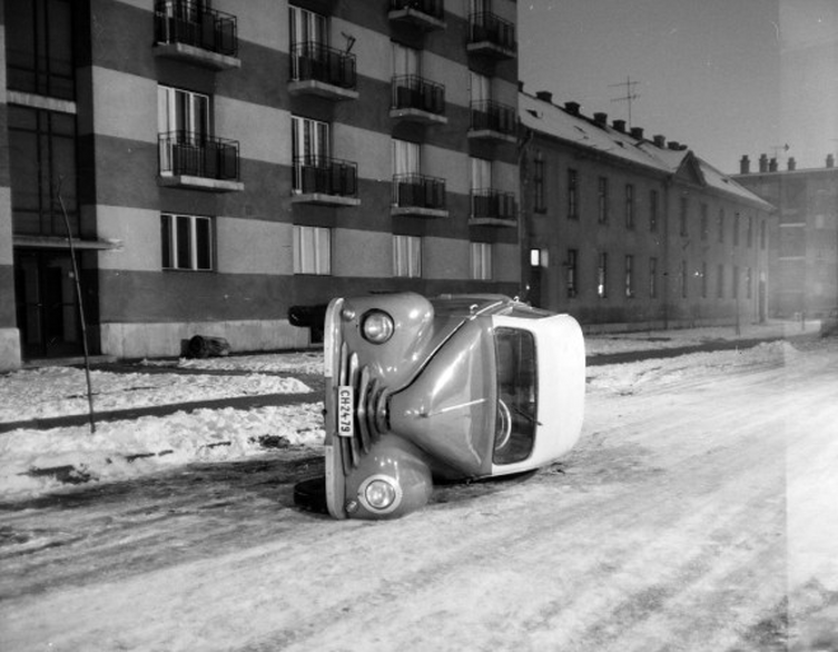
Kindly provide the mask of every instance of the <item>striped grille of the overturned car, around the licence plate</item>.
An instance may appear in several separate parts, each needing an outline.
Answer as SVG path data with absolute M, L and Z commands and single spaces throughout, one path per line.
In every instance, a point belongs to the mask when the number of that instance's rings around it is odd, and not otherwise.
M 353 436 L 339 436 L 344 472 L 358 465 L 361 456 L 390 429 L 387 418 L 387 392 L 377 378 L 373 378 L 368 365 L 358 364 L 358 355 L 349 353 L 344 342 L 341 345 L 338 384 L 354 389 Z

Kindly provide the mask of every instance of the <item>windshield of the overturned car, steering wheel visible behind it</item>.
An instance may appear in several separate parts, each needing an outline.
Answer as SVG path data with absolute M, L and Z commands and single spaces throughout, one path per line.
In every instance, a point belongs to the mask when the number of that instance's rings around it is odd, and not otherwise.
M 495 329 L 497 416 L 493 462 L 526 460 L 535 442 L 538 387 L 535 338 L 517 328 Z

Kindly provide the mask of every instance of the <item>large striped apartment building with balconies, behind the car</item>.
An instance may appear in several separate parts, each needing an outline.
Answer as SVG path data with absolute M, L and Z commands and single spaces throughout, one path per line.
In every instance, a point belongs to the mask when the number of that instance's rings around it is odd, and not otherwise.
M 0 6 L 0 367 L 517 293 L 514 0 Z

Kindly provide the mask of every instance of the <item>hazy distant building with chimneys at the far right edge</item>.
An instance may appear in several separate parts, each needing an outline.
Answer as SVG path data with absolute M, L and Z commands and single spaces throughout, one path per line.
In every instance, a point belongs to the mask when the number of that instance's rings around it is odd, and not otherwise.
M 771 234 L 769 274 L 771 314 L 821 316 L 838 306 L 838 168 L 829 155 L 826 167 L 778 169 L 777 159 L 761 155 L 757 169 L 743 156 L 733 178 L 778 207 Z

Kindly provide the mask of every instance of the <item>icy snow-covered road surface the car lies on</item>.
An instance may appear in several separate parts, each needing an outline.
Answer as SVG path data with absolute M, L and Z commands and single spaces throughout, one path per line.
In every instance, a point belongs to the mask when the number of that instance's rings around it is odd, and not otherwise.
M 0 504 L 3 650 L 836 650 L 838 343 L 589 369 L 583 436 L 391 523 L 314 446 Z M 162 468 L 162 470 L 160 470 Z

